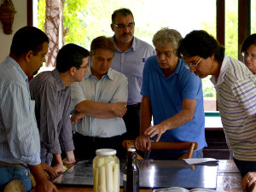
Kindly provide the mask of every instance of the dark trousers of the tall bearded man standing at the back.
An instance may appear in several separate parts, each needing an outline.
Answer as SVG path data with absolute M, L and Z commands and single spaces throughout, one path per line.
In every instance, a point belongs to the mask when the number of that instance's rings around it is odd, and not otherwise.
M 127 112 L 123 117 L 126 126 L 124 140 L 134 140 L 140 135 L 140 113 L 141 103 L 135 105 L 127 105 Z

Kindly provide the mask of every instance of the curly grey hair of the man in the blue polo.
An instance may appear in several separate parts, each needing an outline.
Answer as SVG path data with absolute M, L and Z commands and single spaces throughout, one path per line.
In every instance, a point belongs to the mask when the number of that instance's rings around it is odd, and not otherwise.
M 177 32 L 175 29 L 169 29 L 169 28 L 162 28 L 160 31 L 156 32 L 153 37 L 153 44 L 154 47 L 160 46 L 160 47 L 166 47 L 167 44 L 172 44 L 172 47 L 175 51 L 178 48 L 178 42 L 183 39 L 181 34 Z

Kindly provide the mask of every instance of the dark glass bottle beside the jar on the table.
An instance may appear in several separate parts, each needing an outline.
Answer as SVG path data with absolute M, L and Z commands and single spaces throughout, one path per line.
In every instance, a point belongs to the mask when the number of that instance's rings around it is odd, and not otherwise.
M 126 155 L 126 163 L 123 166 L 124 192 L 139 192 L 139 167 L 137 166 L 137 154 L 135 148 L 129 148 Z

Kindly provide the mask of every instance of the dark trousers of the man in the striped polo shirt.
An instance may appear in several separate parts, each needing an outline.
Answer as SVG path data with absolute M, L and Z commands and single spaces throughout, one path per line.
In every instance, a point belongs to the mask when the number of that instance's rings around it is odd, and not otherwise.
M 236 160 L 234 157 L 233 160 L 241 172 L 241 177 L 245 177 L 247 172 L 256 172 L 256 161 Z

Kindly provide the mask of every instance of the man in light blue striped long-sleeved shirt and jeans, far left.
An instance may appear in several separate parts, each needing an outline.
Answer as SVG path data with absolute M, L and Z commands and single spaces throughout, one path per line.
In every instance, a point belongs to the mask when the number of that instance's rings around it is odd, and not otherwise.
M 36 179 L 36 191 L 57 191 L 41 165 L 35 103 L 27 79 L 45 62 L 48 44 L 44 32 L 25 26 L 15 33 L 10 54 L 0 64 L 0 191 L 13 179 L 31 190 L 29 170 Z

